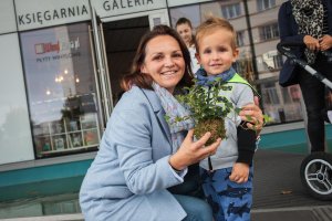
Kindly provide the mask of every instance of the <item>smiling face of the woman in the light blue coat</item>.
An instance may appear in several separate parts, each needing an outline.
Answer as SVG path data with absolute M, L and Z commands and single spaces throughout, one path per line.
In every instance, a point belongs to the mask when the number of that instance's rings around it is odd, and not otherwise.
M 169 35 L 152 39 L 145 49 L 141 72 L 173 93 L 185 74 L 185 60 L 178 42 Z

